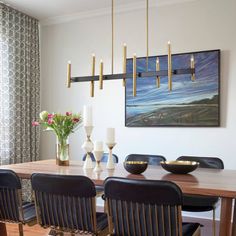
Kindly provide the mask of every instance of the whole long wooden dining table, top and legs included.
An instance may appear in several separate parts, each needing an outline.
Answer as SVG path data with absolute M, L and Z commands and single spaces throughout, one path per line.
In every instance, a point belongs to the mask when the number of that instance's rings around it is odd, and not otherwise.
M 149 165 L 147 170 L 139 175 L 130 174 L 123 164 L 116 164 L 112 170 L 102 164 L 102 171 L 84 169 L 82 161 L 70 161 L 69 166 L 58 166 L 55 159 L 26 162 L 20 164 L 2 165 L 0 169 L 13 170 L 20 178 L 30 179 L 33 173 L 83 175 L 90 178 L 94 184 L 103 185 L 110 176 L 128 179 L 167 180 L 176 183 L 184 194 L 218 196 L 221 198 L 220 236 L 236 236 L 233 214 L 233 201 L 236 198 L 236 170 L 218 170 L 198 168 L 190 174 L 172 174 L 161 166 Z M 75 186 L 76 187 L 76 186 Z M 5 224 L 0 224 L 0 235 L 5 236 Z

